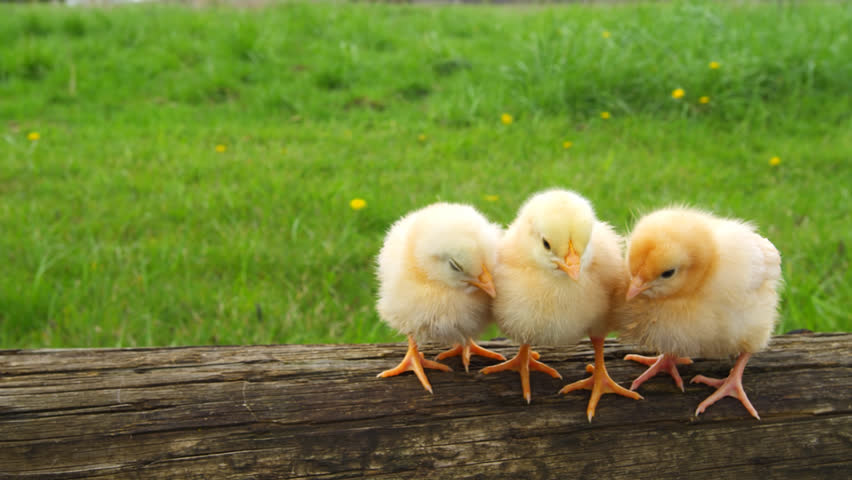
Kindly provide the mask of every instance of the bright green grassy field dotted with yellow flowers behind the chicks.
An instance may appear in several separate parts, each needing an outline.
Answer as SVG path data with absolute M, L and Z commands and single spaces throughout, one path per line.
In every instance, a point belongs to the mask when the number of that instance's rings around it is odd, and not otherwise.
M 2 5 L 0 347 L 398 340 L 373 307 L 390 223 L 436 200 L 507 223 L 550 186 L 621 231 L 673 202 L 751 219 L 784 258 L 778 331 L 849 331 L 849 25 L 842 2 Z

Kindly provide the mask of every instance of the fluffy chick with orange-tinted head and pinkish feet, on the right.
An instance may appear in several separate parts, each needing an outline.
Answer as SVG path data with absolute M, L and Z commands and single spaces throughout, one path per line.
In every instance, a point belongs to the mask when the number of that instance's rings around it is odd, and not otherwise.
M 743 390 L 742 374 L 749 357 L 766 347 L 778 317 L 781 256 L 775 246 L 740 220 L 666 208 L 636 224 L 627 262 L 631 283 L 622 333 L 663 352 L 625 357 L 651 365 L 631 389 L 665 371 L 682 390 L 676 364 L 691 362 L 680 356 L 739 354 L 726 379 L 692 379 L 717 388 L 695 414 L 732 396 L 760 419 Z

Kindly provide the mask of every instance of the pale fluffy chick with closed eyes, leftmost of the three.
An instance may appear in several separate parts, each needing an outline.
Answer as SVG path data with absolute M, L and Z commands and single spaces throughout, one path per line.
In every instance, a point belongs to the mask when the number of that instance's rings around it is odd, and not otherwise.
M 471 340 L 491 321 L 496 295 L 491 272 L 500 234 L 500 227 L 473 207 L 450 203 L 430 205 L 393 224 L 378 257 L 376 309 L 382 320 L 408 336 L 408 352 L 379 377 L 413 370 L 432 393 L 423 368 L 451 369 L 423 358 L 417 341 L 455 342 L 465 362 L 471 349 L 505 360 Z

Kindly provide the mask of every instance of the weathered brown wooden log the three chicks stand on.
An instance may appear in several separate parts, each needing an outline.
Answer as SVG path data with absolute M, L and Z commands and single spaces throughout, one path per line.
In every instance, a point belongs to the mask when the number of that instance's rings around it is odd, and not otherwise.
M 776 337 L 744 377 L 762 421 L 733 399 L 696 418 L 711 389 L 660 376 L 643 401 L 604 396 L 591 424 L 588 392 L 556 394 L 585 376 L 588 343 L 539 349 L 564 381 L 533 373 L 531 405 L 516 374 L 457 358 L 429 372 L 434 395 L 410 373 L 375 378 L 403 344 L 0 351 L 0 478 L 848 478 L 850 347 Z M 633 351 L 607 342 L 626 385 Z

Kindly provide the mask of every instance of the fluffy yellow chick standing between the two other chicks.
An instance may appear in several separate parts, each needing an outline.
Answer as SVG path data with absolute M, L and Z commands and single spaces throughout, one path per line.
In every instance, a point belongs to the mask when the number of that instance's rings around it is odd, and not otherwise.
M 558 372 L 537 361 L 530 344 L 575 343 L 589 335 L 595 368 L 586 380 L 562 393 L 592 390 L 587 415 L 594 416 L 603 393 L 641 398 L 618 386 L 606 372 L 603 340 L 610 330 L 614 301 L 624 295 L 626 271 L 621 239 L 595 217 L 588 200 L 567 190 L 549 190 L 530 198 L 497 247 L 494 282 L 500 295 L 494 316 L 501 330 L 521 343 L 517 356 L 482 373 L 516 370 L 527 403 L 532 396 L 529 371 Z

